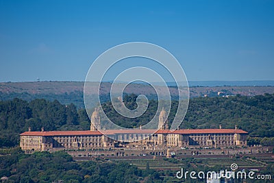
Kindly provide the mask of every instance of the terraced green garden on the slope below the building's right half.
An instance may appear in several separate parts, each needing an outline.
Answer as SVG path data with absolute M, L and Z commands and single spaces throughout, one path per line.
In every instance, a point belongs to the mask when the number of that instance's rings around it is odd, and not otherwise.
M 267 162 L 274 162 L 271 154 L 258 154 L 257 156 L 195 156 L 193 158 L 165 158 L 157 157 L 153 159 L 153 156 L 132 156 L 127 158 L 110 158 L 112 161 L 125 161 L 130 164 L 136 165 L 140 169 L 146 169 L 149 164 L 150 169 L 157 169 L 159 171 L 170 170 L 177 171 L 180 167 L 222 167 L 224 169 L 230 169 L 232 163 L 238 164 L 238 169 L 264 169 Z

